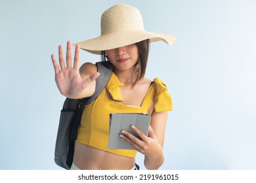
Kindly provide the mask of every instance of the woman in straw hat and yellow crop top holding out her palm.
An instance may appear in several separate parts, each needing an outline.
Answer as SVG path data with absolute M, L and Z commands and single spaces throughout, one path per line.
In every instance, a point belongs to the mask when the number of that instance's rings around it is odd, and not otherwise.
M 139 10 L 128 5 L 115 5 L 101 17 L 101 35 L 75 44 L 72 67 L 71 42 L 67 43 L 66 66 L 59 46 L 59 64 L 52 55 L 55 80 L 62 95 L 72 99 L 89 97 L 95 92 L 96 65 L 84 63 L 79 69 L 79 48 L 101 54 L 113 65 L 113 73 L 103 92 L 86 105 L 75 141 L 74 162 L 71 169 L 136 169 L 137 152 L 144 154 L 146 169 L 158 169 L 163 161 L 163 141 L 171 97 L 165 84 L 144 77 L 149 42 L 173 44 L 173 35 L 144 31 Z M 119 138 L 136 150 L 108 149 L 109 115 L 113 112 L 148 113 L 151 115 L 148 136 L 136 126 L 132 129 L 140 139 L 128 131 Z

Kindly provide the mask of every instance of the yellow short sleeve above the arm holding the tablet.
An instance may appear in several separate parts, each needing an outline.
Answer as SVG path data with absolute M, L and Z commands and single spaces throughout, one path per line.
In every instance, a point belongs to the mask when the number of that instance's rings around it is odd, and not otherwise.
M 160 78 L 154 79 L 154 100 L 156 112 L 173 110 L 173 102 L 171 95 L 167 90 L 167 86 Z

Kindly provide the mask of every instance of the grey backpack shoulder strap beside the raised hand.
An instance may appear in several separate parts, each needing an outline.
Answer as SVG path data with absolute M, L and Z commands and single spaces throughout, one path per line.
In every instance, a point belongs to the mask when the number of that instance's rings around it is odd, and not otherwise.
M 98 78 L 96 78 L 95 93 L 93 93 L 91 97 L 81 99 L 84 105 L 91 103 L 96 99 L 96 97 L 98 97 L 98 95 L 100 95 L 100 93 L 108 83 L 110 76 L 112 75 L 113 66 L 110 61 L 98 61 L 96 62 L 96 67 L 100 75 L 98 76 Z

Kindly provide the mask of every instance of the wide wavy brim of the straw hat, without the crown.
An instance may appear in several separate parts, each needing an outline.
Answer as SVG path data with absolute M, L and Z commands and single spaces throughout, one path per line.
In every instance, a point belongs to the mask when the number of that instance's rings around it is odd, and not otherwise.
M 94 39 L 77 42 L 74 45 L 79 44 L 82 50 L 92 54 L 101 54 L 103 50 L 111 50 L 114 48 L 127 46 L 146 39 L 150 39 L 150 42 L 163 41 L 170 45 L 175 42 L 174 35 L 149 33 L 146 31 L 127 31 L 100 35 Z

